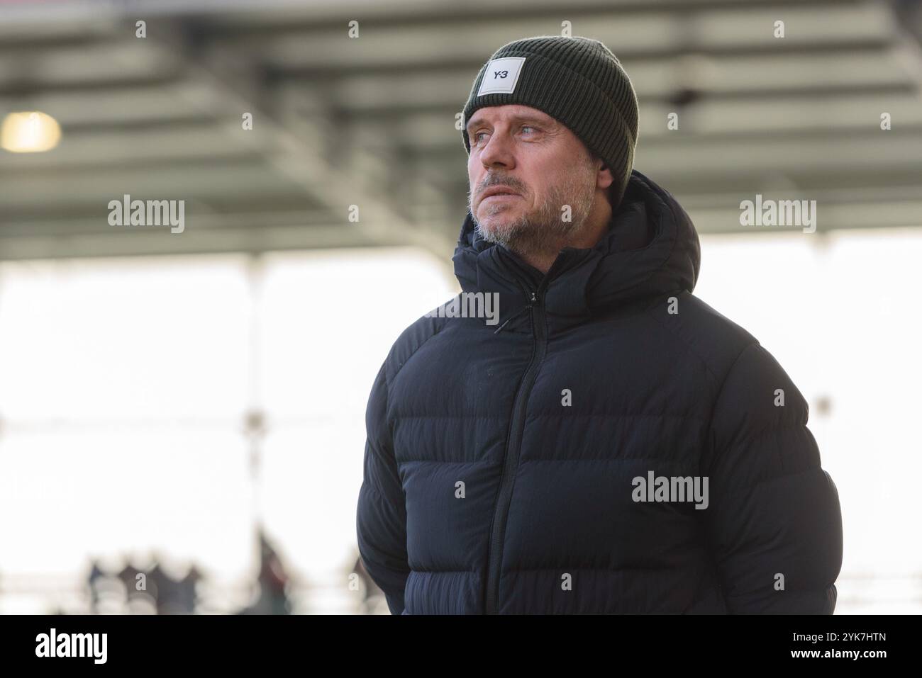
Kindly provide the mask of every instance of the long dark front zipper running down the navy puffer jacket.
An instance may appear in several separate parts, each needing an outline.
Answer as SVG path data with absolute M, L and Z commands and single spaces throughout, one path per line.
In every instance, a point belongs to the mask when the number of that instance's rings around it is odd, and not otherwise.
M 513 419 L 509 427 L 509 441 L 506 445 L 506 456 L 502 464 L 502 478 L 500 492 L 496 502 L 491 523 L 490 544 L 487 557 L 487 580 L 484 586 L 486 601 L 485 614 L 497 614 L 500 598 L 500 573 L 502 570 L 502 543 L 505 539 L 506 520 L 509 517 L 509 505 L 512 502 L 515 470 L 518 467 L 519 454 L 522 451 L 522 438 L 525 434 L 525 415 L 528 395 L 531 393 L 535 380 L 538 378 L 538 366 L 544 360 L 548 347 L 548 336 L 545 328 L 544 307 L 541 305 L 543 298 L 542 287 L 538 292 L 529 292 L 530 302 L 526 306 L 530 311 L 532 333 L 535 346 L 532 350 L 531 360 L 526 367 L 522 383 L 515 394 L 513 403 Z

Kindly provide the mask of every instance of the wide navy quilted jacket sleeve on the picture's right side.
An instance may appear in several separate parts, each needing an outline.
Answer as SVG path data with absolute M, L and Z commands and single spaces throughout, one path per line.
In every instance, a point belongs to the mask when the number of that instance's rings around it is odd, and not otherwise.
M 807 427 L 809 407 L 774 357 L 748 345 L 718 392 L 702 460 L 702 511 L 731 614 L 833 614 L 842 512 Z

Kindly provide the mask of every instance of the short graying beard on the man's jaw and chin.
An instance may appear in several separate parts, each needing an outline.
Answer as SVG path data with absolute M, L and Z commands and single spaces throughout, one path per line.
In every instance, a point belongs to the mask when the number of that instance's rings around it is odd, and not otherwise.
M 477 233 L 520 255 L 555 257 L 561 248 L 583 230 L 595 197 L 593 183 L 577 174 L 562 186 L 554 186 L 538 209 L 512 221 L 484 227 L 471 211 Z M 563 220 L 563 205 L 570 205 L 571 220 Z M 502 209 L 494 214 L 502 214 Z

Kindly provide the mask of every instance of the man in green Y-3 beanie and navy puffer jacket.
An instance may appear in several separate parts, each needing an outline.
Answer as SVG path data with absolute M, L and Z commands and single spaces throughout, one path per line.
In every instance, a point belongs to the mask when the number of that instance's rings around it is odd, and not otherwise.
M 698 236 L 632 169 L 614 54 L 510 42 L 464 123 L 455 275 L 499 319 L 428 313 L 372 386 L 357 529 L 392 614 L 832 614 L 808 405 L 692 296 Z

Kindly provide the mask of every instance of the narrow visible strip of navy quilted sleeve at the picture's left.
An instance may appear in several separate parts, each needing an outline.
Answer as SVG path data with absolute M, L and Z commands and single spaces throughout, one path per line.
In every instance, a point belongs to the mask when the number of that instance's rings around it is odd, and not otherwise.
M 365 569 L 387 600 L 391 614 L 404 611 L 407 585 L 407 510 L 387 425 L 384 365 L 374 380 L 365 411 L 365 461 L 356 528 Z

